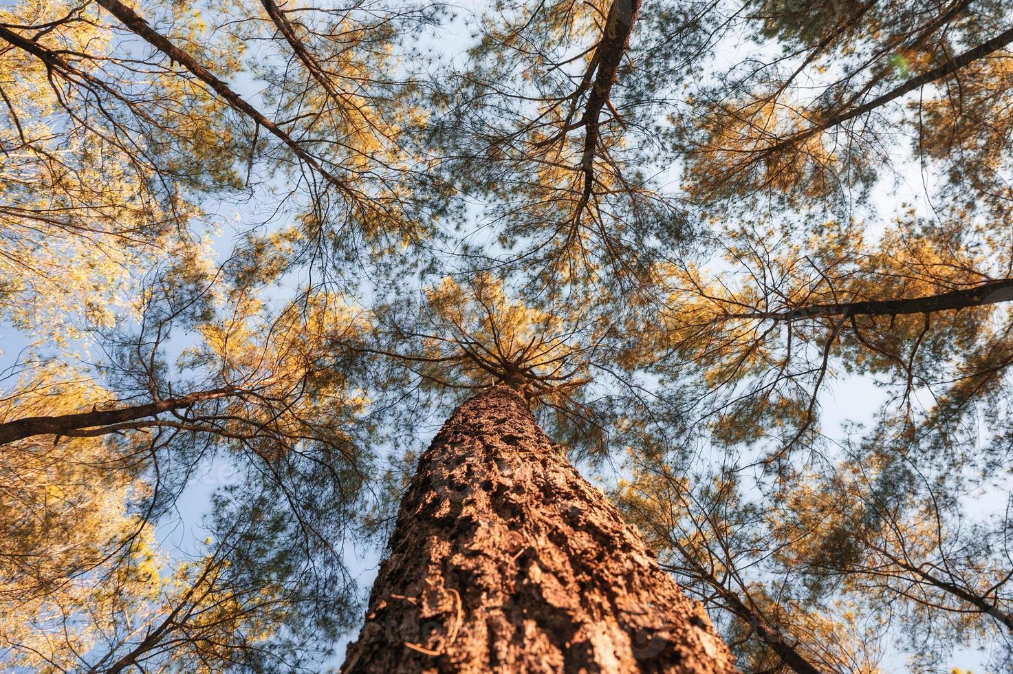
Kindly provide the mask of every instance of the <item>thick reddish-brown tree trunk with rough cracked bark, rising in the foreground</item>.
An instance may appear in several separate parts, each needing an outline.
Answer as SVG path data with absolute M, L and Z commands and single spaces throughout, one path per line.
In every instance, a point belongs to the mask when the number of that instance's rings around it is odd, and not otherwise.
M 699 604 L 495 386 L 418 460 L 353 672 L 733 672 Z

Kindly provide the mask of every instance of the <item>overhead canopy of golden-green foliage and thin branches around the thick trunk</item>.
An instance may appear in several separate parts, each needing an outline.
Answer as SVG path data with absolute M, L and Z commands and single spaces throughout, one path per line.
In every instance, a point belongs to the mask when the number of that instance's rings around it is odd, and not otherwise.
M 744 671 L 1010 669 L 1011 43 L 998 0 L 0 8 L 0 663 L 333 664 L 427 430 L 508 383 Z

